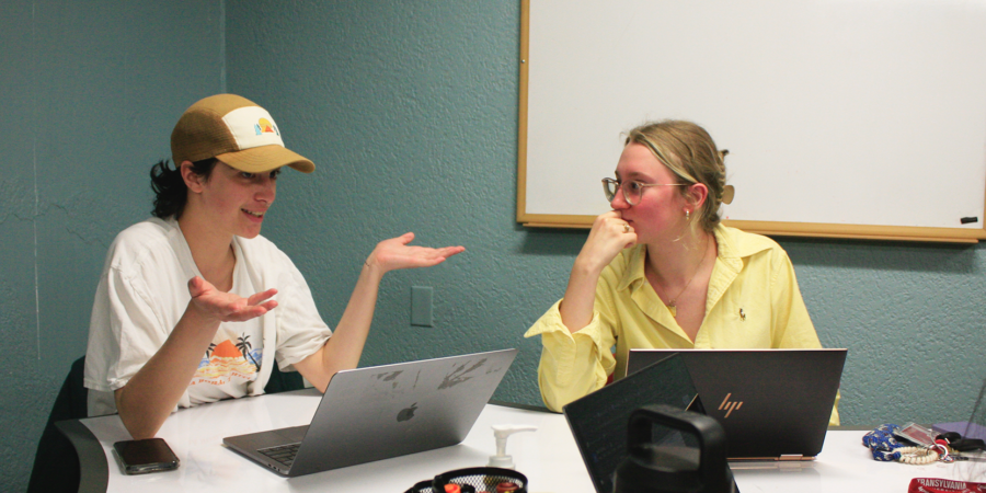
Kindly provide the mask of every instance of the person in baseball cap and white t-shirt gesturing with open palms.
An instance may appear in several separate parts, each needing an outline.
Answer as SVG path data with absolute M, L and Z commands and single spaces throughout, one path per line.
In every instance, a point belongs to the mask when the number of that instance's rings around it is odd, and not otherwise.
M 357 366 L 383 274 L 465 250 L 413 246 L 411 232 L 381 241 L 332 331 L 305 277 L 260 234 L 280 171 L 316 168 L 284 146 L 271 114 L 205 98 L 182 114 L 171 152 L 174 167 L 151 168 L 153 217 L 110 246 L 90 321 L 89 415 L 118 412 L 134 438 L 177 408 L 263 393 L 274 365 L 324 391 Z

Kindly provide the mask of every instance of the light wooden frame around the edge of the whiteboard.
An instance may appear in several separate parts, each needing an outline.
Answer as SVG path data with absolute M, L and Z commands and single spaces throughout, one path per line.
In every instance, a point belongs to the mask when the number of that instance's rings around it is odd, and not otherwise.
M 528 183 L 528 111 L 530 76 L 530 1 L 521 0 L 520 15 L 520 91 L 518 108 L 517 221 L 526 227 L 588 228 L 595 216 L 569 214 L 532 214 L 527 211 Z M 537 1 L 537 0 L 535 0 Z M 986 108 L 984 108 L 986 110 Z M 986 112 L 984 112 L 986 113 Z M 986 117 L 986 114 L 984 114 Z M 986 167 L 986 161 L 983 163 Z M 986 204 L 986 183 L 982 186 Z M 742 191 L 741 191 L 742 192 Z M 780 237 L 844 238 L 927 242 L 976 243 L 986 239 L 986 205 L 975 227 L 913 227 L 865 223 L 790 222 L 771 220 L 724 220 L 729 226 L 761 234 Z

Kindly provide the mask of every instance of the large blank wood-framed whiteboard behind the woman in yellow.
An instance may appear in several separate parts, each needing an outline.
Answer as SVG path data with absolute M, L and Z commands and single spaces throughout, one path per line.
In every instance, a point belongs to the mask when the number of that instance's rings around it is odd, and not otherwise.
M 518 221 L 591 223 L 626 133 L 683 118 L 730 150 L 727 223 L 986 238 L 986 1 L 524 7 Z

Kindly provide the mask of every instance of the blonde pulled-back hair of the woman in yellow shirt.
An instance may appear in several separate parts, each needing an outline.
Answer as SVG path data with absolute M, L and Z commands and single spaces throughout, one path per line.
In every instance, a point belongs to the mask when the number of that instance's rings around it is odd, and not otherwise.
M 650 122 L 627 135 L 626 146 L 640 144 L 654 154 L 676 176 L 678 183 L 692 185 L 701 183 L 709 188 L 709 196 L 702 206 L 692 211 L 692 225 L 706 232 L 712 232 L 719 223 L 719 208 L 723 202 L 732 200 L 733 187 L 725 184 L 727 150 L 719 150 L 704 128 L 681 119 Z M 690 199 L 690 186 L 676 187 Z

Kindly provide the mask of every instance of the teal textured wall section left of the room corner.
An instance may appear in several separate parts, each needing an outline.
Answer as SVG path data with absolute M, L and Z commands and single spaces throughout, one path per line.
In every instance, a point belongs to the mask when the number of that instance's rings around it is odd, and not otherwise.
M 26 488 L 106 248 L 148 216 L 171 127 L 222 89 L 219 16 L 218 2 L 0 3 L 0 491 Z

